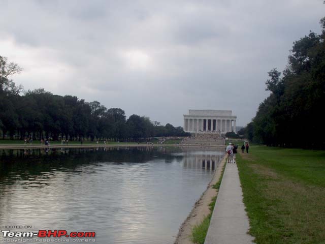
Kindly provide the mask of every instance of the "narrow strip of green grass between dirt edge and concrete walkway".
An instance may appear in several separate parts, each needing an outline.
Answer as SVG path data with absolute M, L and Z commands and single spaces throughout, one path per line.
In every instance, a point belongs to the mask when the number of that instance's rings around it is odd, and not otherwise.
M 215 185 L 213 185 L 213 188 L 216 189 L 217 191 L 219 191 L 219 188 L 220 188 L 225 165 L 226 164 L 224 164 L 222 167 L 222 171 L 221 171 L 219 180 L 216 182 Z M 211 216 L 212 216 L 212 212 L 213 212 L 213 208 L 214 208 L 216 200 L 217 200 L 217 196 L 213 197 L 213 199 L 211 200 L 211 202 L 209 204 L 210 214 L 208 216 L 206 216 L 199 225 L 196 225 L 193 227 L 192 241 L 194 243 L 198 243 L 198 244 L 204 243 L 205 237 L 208 232 L 208 228 L 210 226 Z

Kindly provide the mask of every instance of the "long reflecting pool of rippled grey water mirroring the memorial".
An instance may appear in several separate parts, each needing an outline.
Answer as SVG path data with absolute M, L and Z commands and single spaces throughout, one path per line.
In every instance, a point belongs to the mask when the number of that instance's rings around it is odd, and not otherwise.
M 95 231 L 88 238 L 95 243 L 173 243 L 222 156 L 178 147 L 0 150 L 0 229 Z

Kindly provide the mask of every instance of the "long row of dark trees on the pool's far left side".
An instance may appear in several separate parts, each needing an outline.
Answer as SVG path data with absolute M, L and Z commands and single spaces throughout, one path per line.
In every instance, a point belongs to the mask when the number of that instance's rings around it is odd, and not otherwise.
M 23 92 L 10 76 L 21 72 L 0 56 L 0 130 L 2 138 L 69 140 L 141 140 L 154 136 L 187 136 L 182 127 L 161 126 L 120 108 L 107 109 L 98 101 L 59 96 L 44 89 Z M 23 95 L 21 95 L 23 93 Z

